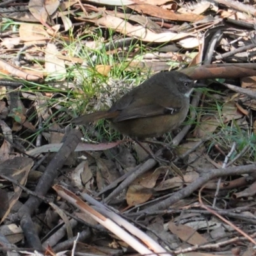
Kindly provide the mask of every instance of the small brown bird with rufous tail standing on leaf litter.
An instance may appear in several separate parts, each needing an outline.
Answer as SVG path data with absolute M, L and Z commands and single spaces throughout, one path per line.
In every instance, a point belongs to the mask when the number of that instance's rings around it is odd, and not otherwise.
M 88 124 L 104 118 L 117 131 L 131 138 L 161 136 L 184 121 L 189 110 L 189 96 L 196 86 L 185 74 L 161 72 L 126 93 L 107 111 L 74 118 L 72 123 Z

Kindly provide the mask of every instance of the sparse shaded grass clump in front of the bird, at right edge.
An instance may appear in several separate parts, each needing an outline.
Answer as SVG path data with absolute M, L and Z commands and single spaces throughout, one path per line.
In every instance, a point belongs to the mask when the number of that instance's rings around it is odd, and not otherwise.
M 216 131 L 212 133 L 212 139 L 207 142 L 207 154 L 212 155 L 213 159 L 223 161 L 225 156 L 228 155 L 228 152 L 230 152 L 232 145 L 236 143 L 236 150 L 232 153 L 230 161 L 243 152 L 245 147 L 247 150 L 241 157 L 239 157 L 236 163 L 255 161 L 256 135 L 253 133 L 253 129 L 248 125 L 244 118 L 224 122 L 223 108 L 225 107 L 225 104 L 227 104 L 228 99 L 226 94 L 208 88 L 204 89 L 204 93 L 204 108 L 199 107 L 196 109 L 196 113 L 198 115 L 213 115 L 216 120 L 218 120 L 218 127 L 216 128 Z M 224 98 L 226 100 L 223 100 Z M 200 122 L 196 122 L 196 124 L 193 125 L 200 126 L 201 124 Z M 214 136 L 216 133 L 218 133 L 218 136 Z M 216 150 L 216 145 L 221 149 L 221 152 Z

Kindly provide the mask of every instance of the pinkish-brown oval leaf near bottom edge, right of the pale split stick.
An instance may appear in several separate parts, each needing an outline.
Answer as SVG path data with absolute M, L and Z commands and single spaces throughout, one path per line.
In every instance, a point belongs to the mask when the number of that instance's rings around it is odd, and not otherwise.
M 207 239 L 201 236 L 193 228 L 186 225 L 175 225 L 175 223 L 170 221 L 168 223 L 168 228 L 173 234 L 179 236 L 182 241 L 185 241 L 189 244 L 199 245 L 208 242 Z

